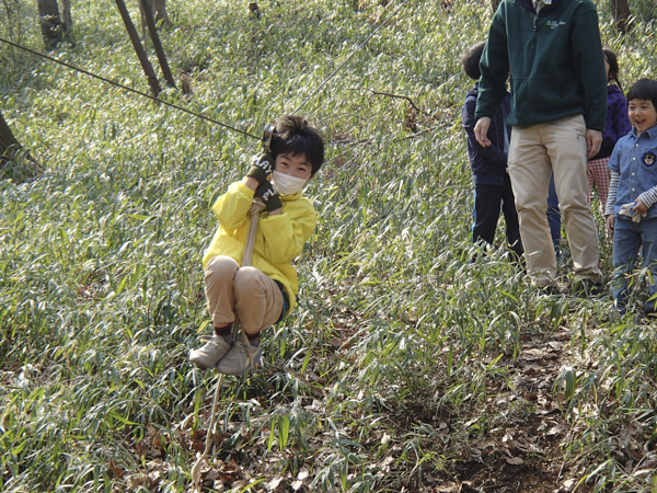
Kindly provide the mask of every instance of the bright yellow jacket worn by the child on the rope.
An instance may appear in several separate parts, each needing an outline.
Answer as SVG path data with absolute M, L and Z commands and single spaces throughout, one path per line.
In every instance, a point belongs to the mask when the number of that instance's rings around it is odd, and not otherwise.
M 212 211 L 220 226 L 203 256 L 204 268 L 210 259 L 218 255 L 230 256 L 242 265 L 251 223 L 249 208 L 254 194 L 242 182 L 235 182 L 217 199 Z M 260 215 L 251 265 L 283 284 L 290 302 L 289 313 L 297 305 L 299 293 L 297 267 L 292 265 L 292 260 L 301 254 L 318 218 L 311 202 L 301 197 L 301 192 L 281 195 L 280 199 L 280 216 L 269 216 L 266 210 Z

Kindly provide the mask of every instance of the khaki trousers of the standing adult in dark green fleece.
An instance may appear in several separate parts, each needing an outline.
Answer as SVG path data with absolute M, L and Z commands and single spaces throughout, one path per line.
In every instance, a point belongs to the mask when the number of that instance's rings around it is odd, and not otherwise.
M 556 255 L 545 217 L 552 172 L 576 279 L 603 280 L 598 268 L 598 231 L 587 199 L 586 154 L 586 126 L 581 115 L 531 127 L 514 127 L 509 174 L 527 274 L 535 286 L 548 286 L 556 278 Z

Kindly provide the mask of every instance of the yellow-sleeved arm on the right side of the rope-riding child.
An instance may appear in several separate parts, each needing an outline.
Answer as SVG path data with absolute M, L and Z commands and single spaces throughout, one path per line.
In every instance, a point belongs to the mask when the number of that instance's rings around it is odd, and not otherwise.
M 312 204 L 306 198 L 295 202 L 288 203 L 283 214 L 261 219 L 263 256 L 273 264 L 291 262 L 299 256 L 315 229 L 318 219 Z

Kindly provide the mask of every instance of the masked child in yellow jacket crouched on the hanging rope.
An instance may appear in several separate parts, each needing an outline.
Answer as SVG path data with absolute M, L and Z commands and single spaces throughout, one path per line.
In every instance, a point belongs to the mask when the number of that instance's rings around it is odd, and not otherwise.
M 260 333 L 283 320 L 296 305 L 297 268 L 291 264 L 316 226 L 303 187 L 324 161 L 324 142 L 298 116 L 276 124 L 272 153 L 257 156 L 240 182 L 232 183 L 212 206 L 219 229 L 207 249 L 205 293 L 215 334 L 189 353 L 201 369 L 227 375 L 244 372 L 262 356 Z M 266 210 L 258 217 L 251 266 L 242 267 L 249 234 L 249 209 L 261 197 Z M 249 339 L 232 343 L 235 317 Z

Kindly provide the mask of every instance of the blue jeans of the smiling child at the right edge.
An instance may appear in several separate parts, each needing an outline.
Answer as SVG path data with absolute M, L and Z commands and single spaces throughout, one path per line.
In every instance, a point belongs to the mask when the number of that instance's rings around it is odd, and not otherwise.
M 650 297 L 657 294 L 657 218 L 632 219 L 615 218 L 613 227 L 613 278 L 611 295 L 619 308 L 625 306 L 627 298 L 627 274 L 632 273 L 638 256 L 638 248 L 643 245 L 643 266 L 648 267 L 653 283 L 648 279 Z M 649 300 L 646 308 L 655 308 L 655 300 Z

